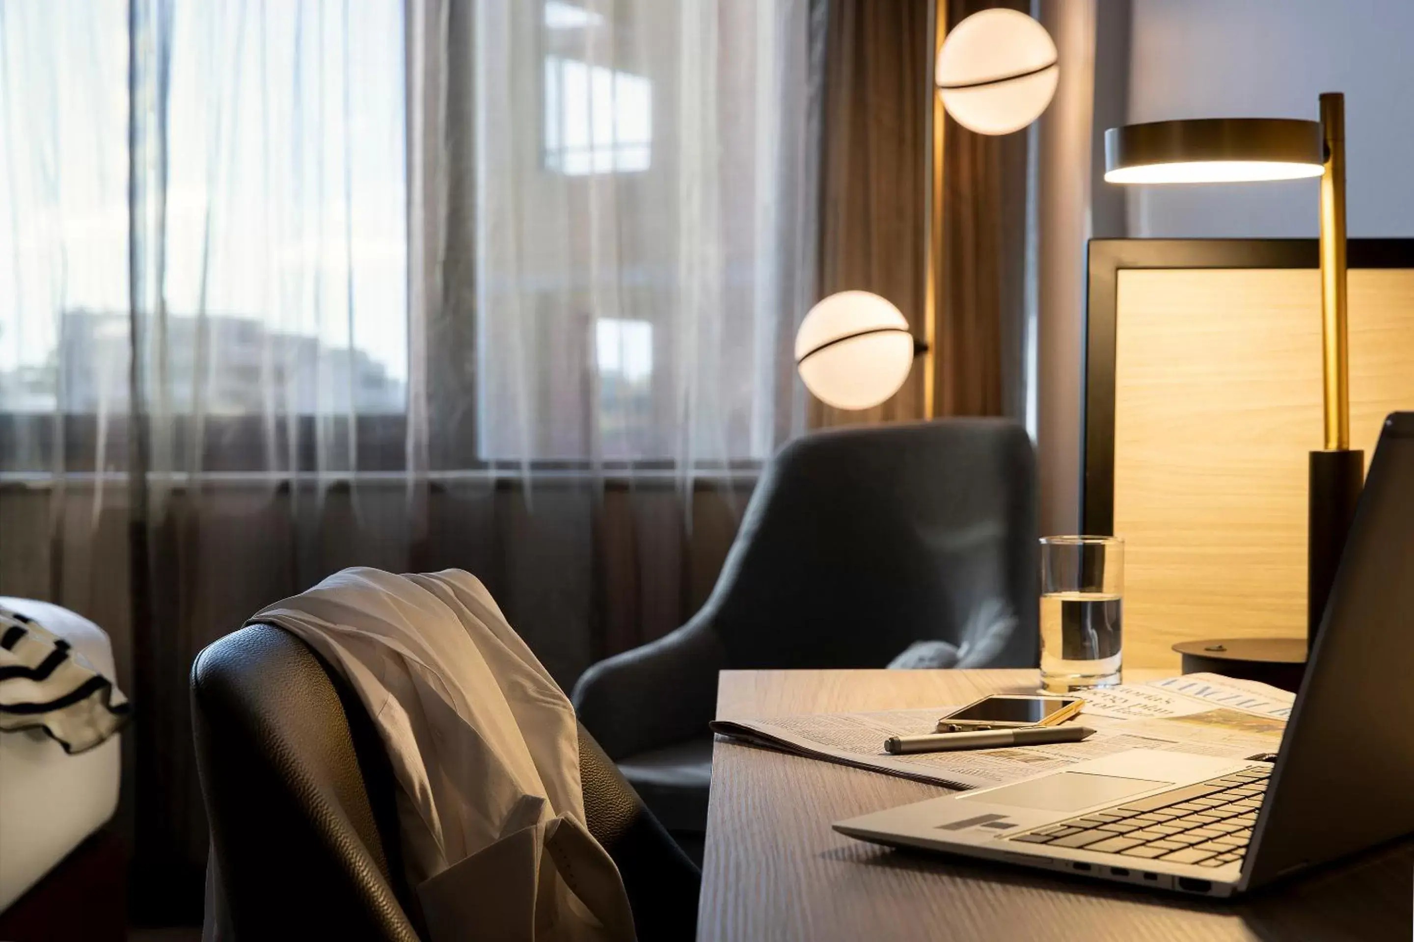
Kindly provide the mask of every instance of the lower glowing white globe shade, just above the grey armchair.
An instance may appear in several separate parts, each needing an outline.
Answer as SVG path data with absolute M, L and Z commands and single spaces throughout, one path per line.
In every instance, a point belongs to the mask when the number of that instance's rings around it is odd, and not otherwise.
M 796 333 L 800 378 L 836 408 L 878 405 L 904 386 L 912 364 L 908 321 L 868 291 L 831 294 L 810 308 Z

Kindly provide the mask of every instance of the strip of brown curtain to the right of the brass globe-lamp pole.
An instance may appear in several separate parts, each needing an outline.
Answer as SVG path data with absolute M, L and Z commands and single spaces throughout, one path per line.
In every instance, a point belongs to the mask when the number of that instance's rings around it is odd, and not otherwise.
M 1029 13 L 1025 0 L 947 0 L 947 24 L 978 10 Z M 950 116 L 943 129 L 943 239 L 936 411 L 1012 415 L 1025 408 L 1028 131 L 988 136 Z

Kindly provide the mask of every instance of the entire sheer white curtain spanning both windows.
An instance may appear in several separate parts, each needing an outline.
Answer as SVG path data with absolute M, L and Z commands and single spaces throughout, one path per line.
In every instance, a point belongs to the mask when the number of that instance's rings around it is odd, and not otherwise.
M 816 6 L 0 3 L 0 590 L 115 637 L 154 900 L 256 609 L 467 568 L 570 685 L 710 589 L 803 422 Z

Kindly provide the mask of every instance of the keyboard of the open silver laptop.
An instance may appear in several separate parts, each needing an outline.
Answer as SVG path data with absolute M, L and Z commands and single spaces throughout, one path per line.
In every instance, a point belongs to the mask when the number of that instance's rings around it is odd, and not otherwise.
M 1092 811 L 1007 840 L 1220 867 L 1241 860 L 1247 852 L 1270 774 L 1270 767 L 1247 768 Z

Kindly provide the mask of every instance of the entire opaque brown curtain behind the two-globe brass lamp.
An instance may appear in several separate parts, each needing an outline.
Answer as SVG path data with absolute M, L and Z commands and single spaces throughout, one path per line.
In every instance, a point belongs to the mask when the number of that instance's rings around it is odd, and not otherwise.
M 933 0 L 827 0 L 820 191 L 820 297 L 863 288 L 926 335 L 926 177 L 933 107 Z M 1021 0 L 947 0 L 946 21 Z M 1025 407 L 1028 133 L 976 134 L 946 119 L 935 363 L 936 415 L 1021 415 Z M 812 403 L 810 425 L 923 415 L 921 359 L 878 408 Z

